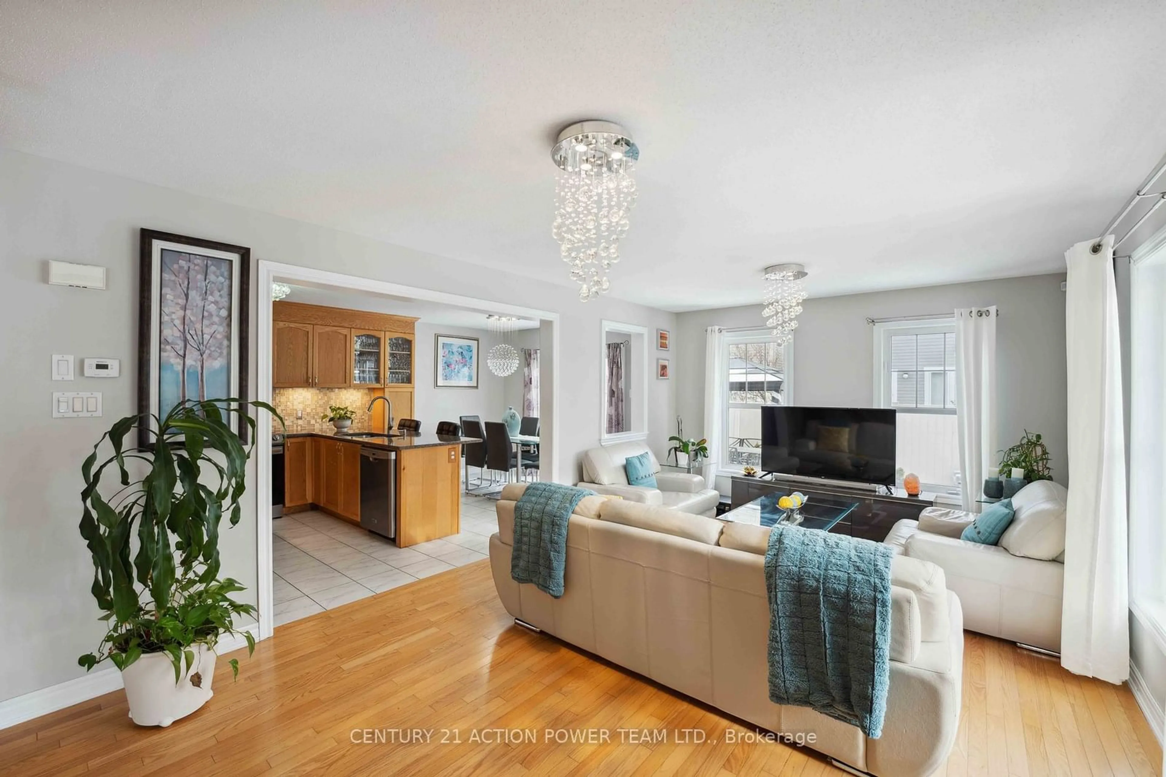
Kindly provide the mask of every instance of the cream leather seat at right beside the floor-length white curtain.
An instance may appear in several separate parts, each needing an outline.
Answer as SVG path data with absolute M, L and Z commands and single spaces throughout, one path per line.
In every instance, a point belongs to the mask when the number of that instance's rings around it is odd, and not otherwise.
M 942 508 L 899 521 L 883 542 L 943 567 L 963 603 L 964 628 L 1060 652 L 1067 496 L 1052 480 L 1021 488 L 998 545 L 960 539 L 975 514 Z

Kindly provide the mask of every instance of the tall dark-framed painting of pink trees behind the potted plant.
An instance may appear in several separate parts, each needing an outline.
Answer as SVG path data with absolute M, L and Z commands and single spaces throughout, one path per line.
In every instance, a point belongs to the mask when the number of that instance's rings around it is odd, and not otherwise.
M 251 249 L 154 229 L 140 239 L 138 411 L 246 400 Z M 246 422 L 233 422 L 246 443 Z M 142 428 L 139 445 L 150 444 Z

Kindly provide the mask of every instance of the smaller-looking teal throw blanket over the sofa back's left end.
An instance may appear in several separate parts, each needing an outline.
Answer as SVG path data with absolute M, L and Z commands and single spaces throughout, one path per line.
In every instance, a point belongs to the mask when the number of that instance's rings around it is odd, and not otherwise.
M 559 483 L 531 483 L 514 504 L 511 577 L 533 582 L 555 599 L 563 595 L 567 522 L 575 506 L 595 492 Z

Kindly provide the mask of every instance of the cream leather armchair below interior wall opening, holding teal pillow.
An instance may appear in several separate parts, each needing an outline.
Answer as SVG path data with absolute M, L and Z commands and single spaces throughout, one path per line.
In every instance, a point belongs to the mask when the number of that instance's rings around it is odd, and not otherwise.
M 624 461 L 641 453 L 652 457 L 656 488 L 631 486 L 627 482 Z M 708 517 L 716 515 L 717 502 L 721 501 L 721 494 L 712 488 L 705 488 L 704 478 L 701 475 L 661 472 L 660 462 L 644 443 L 617 443 L 586 451 L 583 453 L 583 480 L 578 485 L 597 494 L 612 494 L 632 502 L 660 504 Z

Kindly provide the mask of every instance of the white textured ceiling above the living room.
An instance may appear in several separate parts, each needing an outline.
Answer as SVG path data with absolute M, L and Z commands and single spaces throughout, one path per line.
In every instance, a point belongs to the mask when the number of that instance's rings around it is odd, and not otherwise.
M 1063 268 L 1166 151 L 1161 0 L 7 0 L 0 144 L 559 283 L 549 149 L 640 144 L 613 295 Z

